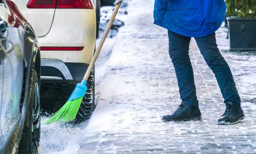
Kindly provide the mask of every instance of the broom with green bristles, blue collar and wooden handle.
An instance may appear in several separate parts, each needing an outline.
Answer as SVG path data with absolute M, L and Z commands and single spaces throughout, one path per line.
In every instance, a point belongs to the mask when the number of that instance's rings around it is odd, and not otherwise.
M 84 75 L 82 82 L 77 84 L 76 88 L 74 89 L 74 91 L 70 95 L 68 101 L 64 104 L 64 106 L 61 109 L 59 109 L 56 113 L 52 114 L 51 117 L 47 121 L 44 122 L 46 125 L 53 123 L 53 122 L 68 122 L 68 121 L 74 120 L 76 118 L 77 112 L 78 112 L 81 102 L 83 100 L 84 94 L 87 90 L 86 82 L 88 80 L 90 72 L 92 71 L 92 69 L 94 67 L 94 64 L 95 64 L 96 59 L 100 53 L 103 43 L 106 40 L 107 34 L 108 34 L 109 30 L 111 29 L 111 26 L 115 20 L 115 17 L 117 15 L 117 12 L 120 8 L 121 3 L 122 3 L 122 1 L 116 5 L 111 18 L 109 19 L 107 27 L 102 35 L 102 38 L 101 38 L 100 43 L 95 51 L 93 59 L 90 62 L 88 69 L 86 70 L 86 73 Z

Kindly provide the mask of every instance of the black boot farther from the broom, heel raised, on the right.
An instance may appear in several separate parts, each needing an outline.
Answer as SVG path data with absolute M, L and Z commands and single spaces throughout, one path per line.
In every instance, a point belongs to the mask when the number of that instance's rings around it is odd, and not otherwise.
M 234 102 L 226 103 L 226 110 L 222 117 L 218 119 L 218 125 L 232 125 L 245 118 L 241 105 Z

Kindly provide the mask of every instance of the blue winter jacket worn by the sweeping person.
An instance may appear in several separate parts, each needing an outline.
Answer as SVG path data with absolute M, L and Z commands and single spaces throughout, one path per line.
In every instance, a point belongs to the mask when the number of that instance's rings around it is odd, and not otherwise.
M 154 24 L 175 33 L 203 37 L 221 27 L 224 0 L 155 0 Z

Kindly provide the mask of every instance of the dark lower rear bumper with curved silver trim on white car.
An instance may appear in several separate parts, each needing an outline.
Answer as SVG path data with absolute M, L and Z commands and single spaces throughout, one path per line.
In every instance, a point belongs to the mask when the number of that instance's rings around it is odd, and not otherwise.
M 77 84 L 83 80 L 89 64 L 64 63 L 57 59 L 41 60 L 42 83 Z

